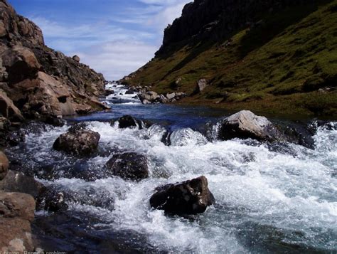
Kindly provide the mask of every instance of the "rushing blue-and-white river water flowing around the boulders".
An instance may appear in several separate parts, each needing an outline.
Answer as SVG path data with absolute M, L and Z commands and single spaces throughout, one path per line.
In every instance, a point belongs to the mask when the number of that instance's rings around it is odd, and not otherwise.
M 115 95 L 105 101 L 112 112 L 68 121 L 86 121 L 100 133 L 95 157 L 75 159 L 53 151 L 53 142 L 68 126 L 32 132 L 25 144 L 9 151 L 44 184 L 75 196 L 64 213 L 37 213 L 34 231 L 45 248 L 78 253 L 337 252 L 336 123 L 317 130 L 314 150 L 295 144 L 270 149 L 240 139 L 210 142 L 200 133 L 205 122 L 226 113 L 141 105 L 122 86 L 110 86 Z M 122 115 L 156 125 L 119 129 L 107 122 Z M 173 132 L 171 145 L 161 142 L 164 127 Z M 149 179 L 97 177 L 116 151 L 146 154 Z M 150 208 L 157 186 L 201 175 L 216 200 L 205 213 L 181 218 Z

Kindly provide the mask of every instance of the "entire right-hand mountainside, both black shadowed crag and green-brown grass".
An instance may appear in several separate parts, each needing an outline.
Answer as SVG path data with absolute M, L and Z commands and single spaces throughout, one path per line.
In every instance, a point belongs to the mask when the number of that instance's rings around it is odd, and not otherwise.
M 188 104 L 337 115 L 336 45 L 336 0 L 195 0 L 122 81 Z

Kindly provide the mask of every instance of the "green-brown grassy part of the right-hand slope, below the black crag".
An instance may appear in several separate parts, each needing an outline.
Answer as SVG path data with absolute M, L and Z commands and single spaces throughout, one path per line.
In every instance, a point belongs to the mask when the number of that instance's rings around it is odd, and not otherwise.
M 193 94 L 201 78 L 209 86 Z M 222 41 L 182 41 L 128 82 L 191 95 L 181 103 L 336 117 L 337 0 L 267 14 Z

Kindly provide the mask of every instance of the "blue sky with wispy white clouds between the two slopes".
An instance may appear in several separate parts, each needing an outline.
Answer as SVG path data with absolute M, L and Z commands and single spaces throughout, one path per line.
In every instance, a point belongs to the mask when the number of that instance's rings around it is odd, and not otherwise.
M 154 57 L 164 28 L 192 0 L 8 0 L 45 43 L 119 80 Z

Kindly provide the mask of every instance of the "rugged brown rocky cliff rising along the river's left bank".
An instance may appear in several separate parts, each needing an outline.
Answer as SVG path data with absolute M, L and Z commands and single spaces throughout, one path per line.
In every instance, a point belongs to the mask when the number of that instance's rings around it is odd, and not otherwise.
M 3 117 L 60 117 L 105 109 L 105 79 L 48 48 L 38 26 L 0 0 L 0 110 Z

